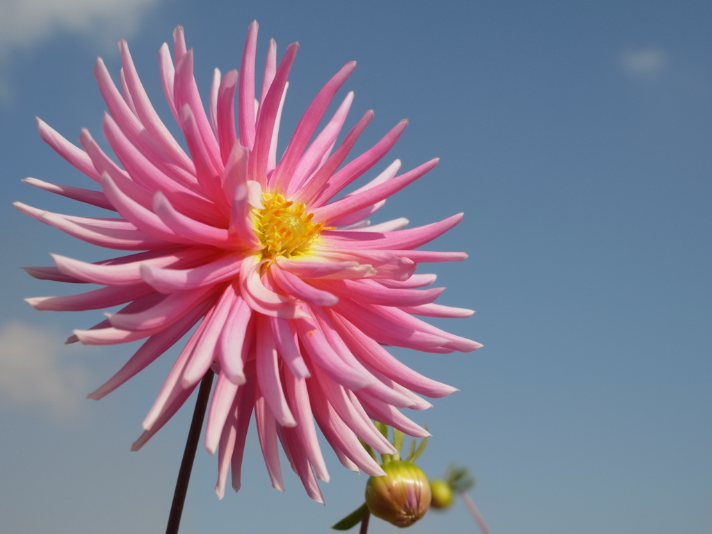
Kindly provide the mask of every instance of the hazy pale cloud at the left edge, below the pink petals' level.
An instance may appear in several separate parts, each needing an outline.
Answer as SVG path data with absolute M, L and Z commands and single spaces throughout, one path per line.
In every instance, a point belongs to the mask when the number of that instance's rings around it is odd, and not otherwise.
M 0 399 L 3 404 L 39 408 L 53 419 L 80 412 L 88 373 L 70 364 L 72 350 L 46 329 L 7 323 L 0 330 Z

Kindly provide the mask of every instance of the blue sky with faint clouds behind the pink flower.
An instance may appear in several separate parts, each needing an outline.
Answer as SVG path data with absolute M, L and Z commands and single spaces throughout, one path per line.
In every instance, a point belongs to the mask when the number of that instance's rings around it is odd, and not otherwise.
M 65 347 L 97 313 L 32 310 L 66 294 L 19 266 L 95 250 L 10 202 L 86 213 L 19 180 L 88 187 L 36 133 L 34 116 L 75 140 L 100 136 L 95 56 L 132 56 L 159 113 L 157 51 L 174 26 L 211 70 L 239 66 L 246 28 L 259 50 L 300 41 L 283 132 L 330 75 L 358 66 L 353 124 L 376 117 L 364 150 L 403 117 L 392 157 L 441 164 L 389 200 L 414 226 L 464 211 L 436 241 L 464 263 L 436 264 L 439 302 L 475 308 L 446 328 L 483 342 L 468 355 L 394 351 L 460 392 L 416 414 L 434 437 L 430 476 L 470 466 L 495 534 L 712 534 L 712 4 L 703 1 L 182 0 L 0 2 L 0 530 L 155 533 L 164 529 L 190 414 L 138 453 L 131 442 L 174 353 L 100 402 L 85 394 L 130 354 Z M 345 92 L 343 90 L 343 92 Z M 426 266 L 427 268 L 428 266 Z M 61 293 L 64 292 L 64 293 Z M 440 323 L 439 323 L 440 325 Z M 327 532 L 362 502 L 364 476 L 328 457 L 326 507 L 298 480 L 271 489 L 248 436 L 240 493 L 218 501 L 200 449 L 182 533 Z M 410 532 L 473 531 L 459 504 Z M 372 533 L 395 528 L 374 521 Z

